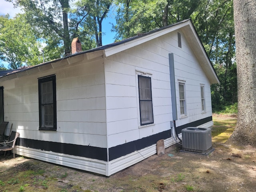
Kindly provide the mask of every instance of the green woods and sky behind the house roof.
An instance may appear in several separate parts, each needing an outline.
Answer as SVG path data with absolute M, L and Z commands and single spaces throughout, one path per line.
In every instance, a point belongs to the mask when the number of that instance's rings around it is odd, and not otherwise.
M 12 1 L 12 0 L 8 0 Z M 115 41 L 191 18 L 220 84 L 212 85 L 213 111 L 237 102 L 232 0 L 13 0 L 24 14 L 0 16 L 0 59 L 9 69 L 36 65 L 82 49 L 102 46 L 104 18 L 115 18 Z M 1 66 L 4 70 L 4 66 Z

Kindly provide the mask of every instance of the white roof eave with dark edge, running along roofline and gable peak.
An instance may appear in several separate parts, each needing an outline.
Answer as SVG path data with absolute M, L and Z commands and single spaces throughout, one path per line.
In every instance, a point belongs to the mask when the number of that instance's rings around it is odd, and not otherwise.
M 10 79 L 18 78 L 21 76 L 30 75 L 35 72 L 45 71 L 50 68 L 56 68 L 59 66 L 72 64 L 79 60 L 84 60 L 84 59 L 90 60 L 95 57 L 103 56 L 103 55 L 111 56 L 113 54 L 116 54 L 116 53 L 126 50 L 128 48 L 132 48 L 134 46 L 137 46 L 139 44 L 142 44 L 144 42 L 147 42 L 149 40 L 157 38 L 159 36 L 162 36 L 162 35 L 172 32 L 172 31 L 178 30 L 180 28 L 183 29 L 185 36 L 190 40 L 191 44 L 193 44 L 197 47 L 197 51 L 199 54 L 196 54 L 196 56 L 198 57 L 198 60 L 200 61 L 201 66 L 204 69 L 204 72 L 208 76 L 210 83 L 211 84 L 215 84 L 215 83 L 220 84 L 220 80 L 218 79 L 218 76 L 214 70 L 214 67 L 212 66 L 212 63 L 210 62 L 210 59 L 206 53 L 206 50 L 204 49 L 204 46 L 196 32 L 194 25 L 192 24 L 191 19 L 187 19 L 187 20 L 178 22 L 176 24 L 166 26 L 164 28 L 153 30 L 148 33 L 142 34 L 140 36 L 128 38 L 121 42 L 108 44 L 106 46 L 101 46 L 101 47 L 87 50 L 84 52 L 72 54 L 72 55 L 66 56 L 64 58 L 57 59 L 57 60 L 38 64 L 38 65 L 32 66 L 30 68 L 18 70 L 11 74 L 6 74 L 5 76 L 0 77 L 0 81 L 10 80 Z M 193 47 L 193 50 L 194 50 L 194 47 Z M 76 56 L 76 58 L 75 58 L 75 56 Z

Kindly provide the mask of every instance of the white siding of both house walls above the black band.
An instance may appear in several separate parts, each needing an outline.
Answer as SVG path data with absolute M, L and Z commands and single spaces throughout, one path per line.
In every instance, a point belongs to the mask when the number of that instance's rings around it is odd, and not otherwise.
M 22 138 L 102 148 L 169 130 L 172 120 L 169 53 L 174 53 L 176 126 L 211 116 L 210 83 L 180 33 L 182 48 L 178 48 L 174 31 L 104 59 L 85 58 L 75 64 L 1 82 L 5 120 L 14 124 Z M 146 126 L 140 126 L 138 73 L 152 79 L 154 124 Z M 38 131 L 37 78 L 52 74 L 56 74 L 57 131 Z M 178 80 L 186 82 L 186 118 L 179 116 Z M 206 113 L 201 111 L 200 84 L 205 85 Z

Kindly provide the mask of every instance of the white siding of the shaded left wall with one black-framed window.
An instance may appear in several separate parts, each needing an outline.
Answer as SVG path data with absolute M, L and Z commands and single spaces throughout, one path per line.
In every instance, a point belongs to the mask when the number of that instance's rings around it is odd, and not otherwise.
M 38 78 L 56 74 L 57 131 L 38 130 Z M 20 138 L 107 147 L 103 59 L 37 72 L 4 86 L 4 120 Z

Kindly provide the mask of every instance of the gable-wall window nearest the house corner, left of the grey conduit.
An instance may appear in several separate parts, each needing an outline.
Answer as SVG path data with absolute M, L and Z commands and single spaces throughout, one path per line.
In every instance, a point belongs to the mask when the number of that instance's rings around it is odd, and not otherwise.
M 138 75 L 139 84 L 139 102 L 140 102 L 140 125 L 152 124 L 153 107 L 151 78 Z

